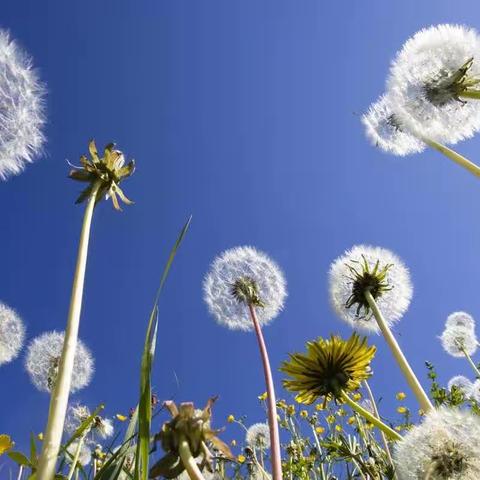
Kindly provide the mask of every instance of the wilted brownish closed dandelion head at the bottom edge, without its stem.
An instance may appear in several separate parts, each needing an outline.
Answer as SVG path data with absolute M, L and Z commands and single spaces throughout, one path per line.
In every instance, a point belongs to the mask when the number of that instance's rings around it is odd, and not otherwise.
M 160 441 L 165 455 L 150 469 L 149 478 L 173 478 L 185 470 L 178 450 L 182 438 L 188 442 L 192 455 L 199 457 L 200 470 L 204 467 L 211 470 L 212 457 L 206 448 L 208 443 L 226 458 L 233 459 L 228 445 L 217 437 L 219 430 L 211 427 L 212 405 L 215 400 L 216 398 L 211 398 L 203 410 L 196 410 L 191 402 L 181 403 L 179 407 L 172 401 L 165 402 L 172 419 L 165 422 L 162 430 L 155 435 L 155 441 Z

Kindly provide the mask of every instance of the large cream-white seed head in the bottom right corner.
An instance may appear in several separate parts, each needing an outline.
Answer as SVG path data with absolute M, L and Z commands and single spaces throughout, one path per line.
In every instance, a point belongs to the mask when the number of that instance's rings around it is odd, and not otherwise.
M 394 452 L 399 480 L 478 480 L 480 419 L 441 407 L 409 430 Z

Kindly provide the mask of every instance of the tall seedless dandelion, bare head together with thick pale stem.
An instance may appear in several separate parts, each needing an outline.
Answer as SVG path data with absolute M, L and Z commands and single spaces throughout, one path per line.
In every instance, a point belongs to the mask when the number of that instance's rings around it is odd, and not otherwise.
M 117 210 L 119 210 L 120 207 L 116 195 L 118 195 L 125 203 L 131 203 L 123 195 L 118 184 L 121 180 L 133 173 L 135 167 L 134 162 L 132 161 L 124 166 L 125 158 L 120 151 L 114 150 L 113 144 L 107 145 L 102 158 L 100 158 L 97 153 L 94 141 L 90 142 L 89 151 L 91 159 L 88 160 L 86 156 L 82 156 L 80 158 L 82 167 L 74 168 L 74 170 L 70 172 L 70 178 L 89 183 L 89 186 L 77 199 L 77 203 L 85 200 L 86 208 L 80 233 L 77 263 L 73 277 L 70 308 L 65 330 L 65 342 L 59 361 L 55 388 L 50 400 L 43 450 L 37 470 L 37 480 L 50 480 L 53 477 L 60 449 L 80 326 L 83 286 L 85 283 L 85 271 L 87 266 L 88 244 L 90 240 L 93 210 L 103 195 L 109 195 L 112 198 L 112 202 Z

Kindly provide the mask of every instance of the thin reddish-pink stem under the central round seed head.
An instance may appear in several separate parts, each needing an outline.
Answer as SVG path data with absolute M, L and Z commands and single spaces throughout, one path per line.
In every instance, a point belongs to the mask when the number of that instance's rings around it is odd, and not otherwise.
M 249 305 L 250 316 L 257 334 L 258 346 L 263 362 L 263 371 L 265 374 L 265 385 L 267 388 L 267 405 L 268 405 L 268 426 L 270 428 L 270 449 L 272 462 L 273 480 L 282 480 L 282 458 L 280 453 L 280 434 L 278 432 L 277 421 L 277 401 L 275 398 L 275 389 L 273 387 L 272 370 L 270 368 L 270 360 L 268 359 L 267 346 L 263 338 L 262 329 L 257 319 L 255 307 Z

